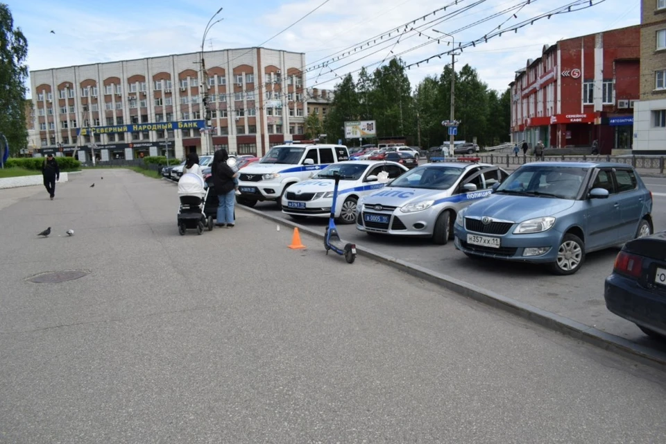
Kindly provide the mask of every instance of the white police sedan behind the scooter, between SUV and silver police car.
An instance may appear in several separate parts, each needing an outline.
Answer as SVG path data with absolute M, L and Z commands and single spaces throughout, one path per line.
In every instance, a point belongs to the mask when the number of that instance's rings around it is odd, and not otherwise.
M 335 217 L 341 223 L 354 223 L 360 197 L 384 187 L 388 180 L 408 171 L 396 162 L 357 160 L 338 162 L 311 179 L 291 185 L 282 196 L 282 212 L 293 219 L 307 216 L 330 217 L 333 204 L 334 173 L 340 174 Z M 382 178 L 386 180 L 382 181 Z

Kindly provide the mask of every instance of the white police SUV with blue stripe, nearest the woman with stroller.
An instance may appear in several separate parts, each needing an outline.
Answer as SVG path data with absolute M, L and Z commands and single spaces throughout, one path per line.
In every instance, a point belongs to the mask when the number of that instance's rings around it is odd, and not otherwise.
M 349 160 L 349 152 L 343 145 L 273 146 L 262 160 L 243 169 L 236 200 L 248 207 L 255 206 L 259 200 L 273 200 L 280 205 L 284 191 L 291 185 L 342 160 Z

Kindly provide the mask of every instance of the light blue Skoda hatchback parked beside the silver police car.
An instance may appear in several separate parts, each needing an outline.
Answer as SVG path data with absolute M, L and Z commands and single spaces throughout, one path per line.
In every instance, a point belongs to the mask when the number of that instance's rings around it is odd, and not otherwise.
M 535 162 L 459 212 L 456 248 L 470 257 L 579 271 L 587 253 L 653 230 L 652 194 L 638 173 L 612 162 Z

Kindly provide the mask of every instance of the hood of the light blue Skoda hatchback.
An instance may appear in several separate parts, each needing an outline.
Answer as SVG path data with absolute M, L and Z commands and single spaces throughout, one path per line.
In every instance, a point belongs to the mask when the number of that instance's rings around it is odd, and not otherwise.
M 487 198 L 472 203 L 465 216 L 522 222 L 536 217 L 555 216 L 574 205 L 575 200 L 536 196 L 513 196 L 490 194 Z

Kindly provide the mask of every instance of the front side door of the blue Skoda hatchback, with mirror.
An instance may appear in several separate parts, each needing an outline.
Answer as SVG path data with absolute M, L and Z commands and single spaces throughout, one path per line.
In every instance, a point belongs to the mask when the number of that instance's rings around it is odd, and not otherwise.
M 613 169 L 598 169 L 593 173 L 590 189 L 603 188 L 608 190 L 606 199 L 585 200 L 585 221 L 586 221 L 586 250 L 599 248 L 601 246 L 612 245 L 617 240 L 618 225 L 620 225 L 620 199 L 615 189 L 613 180 Z

